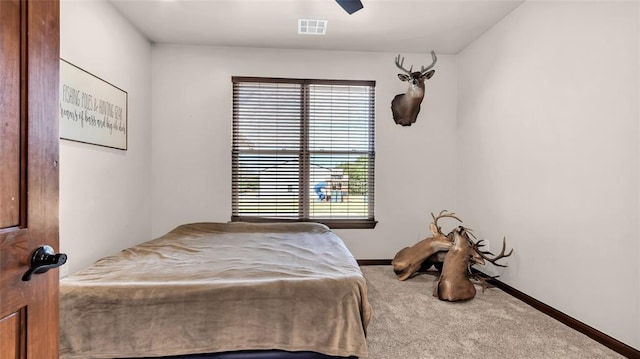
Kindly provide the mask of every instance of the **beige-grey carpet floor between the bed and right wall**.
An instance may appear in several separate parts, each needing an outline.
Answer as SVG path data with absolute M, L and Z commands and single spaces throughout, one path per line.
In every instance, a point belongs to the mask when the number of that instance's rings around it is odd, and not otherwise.
M 450 303 L 434 275 L 401 282 L 391 266 L 363 266 L 373 317 L 370 359 L 624 358 L 497 288 Z

